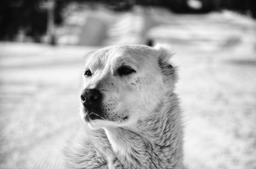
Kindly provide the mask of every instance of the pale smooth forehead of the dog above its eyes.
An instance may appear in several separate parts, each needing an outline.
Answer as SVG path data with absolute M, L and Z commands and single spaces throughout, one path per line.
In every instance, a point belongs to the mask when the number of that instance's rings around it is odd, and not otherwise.
M 154 55 L 152 48 L 144 45 L 123 45 L 106 47 L 91 55 L 88 66 L 94 69 L 103 68 L 106 64 L 138 64 L 150 59 Z

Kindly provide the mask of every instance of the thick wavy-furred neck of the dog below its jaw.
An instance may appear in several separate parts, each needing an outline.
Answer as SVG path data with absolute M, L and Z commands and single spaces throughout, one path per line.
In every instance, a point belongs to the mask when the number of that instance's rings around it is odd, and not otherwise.
M 139 120 L 134 129 L 105 129 L 124 168 L 183 168 L 183 131 L 177 96 L 171 94 L 161 105 L 154 117 Z

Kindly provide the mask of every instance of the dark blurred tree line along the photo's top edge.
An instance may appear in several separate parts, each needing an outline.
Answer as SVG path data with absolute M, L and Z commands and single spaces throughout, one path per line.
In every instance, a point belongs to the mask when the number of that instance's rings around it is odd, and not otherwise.
M 56 0 L 54 22 L 61 24 L 61 12 L 70 2 L 105 3 L 115 11 L 131 10 L 134 4 L 145 6 L 164 6 L 177 13 L 207 13 L 213 10 L 236 10 L 250 13 L 256 17 L 256 4 L 253 0 L 127 0 L 127 1 L 86 1 L 86 0 Z M 47 10 L 40 8 L 42 0 L 1 0 L 0 1 L 0 40 L 13 41 L 19 31 L 23 31 L 32 41 L 41 42 L 42 35 L 47 31 Z

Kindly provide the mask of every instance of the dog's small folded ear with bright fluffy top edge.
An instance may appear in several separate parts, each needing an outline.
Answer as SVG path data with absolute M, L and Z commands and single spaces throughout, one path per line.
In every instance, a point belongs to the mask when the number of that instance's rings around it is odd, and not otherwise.
M 156 45 L 155 50 L 157 50 L 157 58 L 159 67 L 164 75 L 166 75 L 166 80 L 176 81 L 176 68 L 173 66 L 171 59 L 174 52 L 171 51 L 168 45 Z

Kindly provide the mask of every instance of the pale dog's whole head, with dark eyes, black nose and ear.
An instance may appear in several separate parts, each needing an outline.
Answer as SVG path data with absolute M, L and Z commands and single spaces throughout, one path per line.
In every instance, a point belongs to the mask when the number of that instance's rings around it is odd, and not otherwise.
M 86 60 L 81 115 L 91 128 L 132 126 L 154 115 L 164 92 L 173 91 L 174 68 L 163 48 L 103 48 Z

